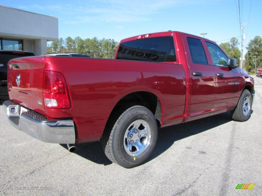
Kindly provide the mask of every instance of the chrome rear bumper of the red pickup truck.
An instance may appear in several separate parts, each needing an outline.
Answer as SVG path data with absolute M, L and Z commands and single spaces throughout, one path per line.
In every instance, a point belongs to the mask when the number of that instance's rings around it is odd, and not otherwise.
M 43 142 L 75 143 L 73 120 L 47 120 L 45 116 L 28 109 L 21 112 L 23 106 L 9 100 L 4 101 L 3 105 L 9 122 L 18 130 Z

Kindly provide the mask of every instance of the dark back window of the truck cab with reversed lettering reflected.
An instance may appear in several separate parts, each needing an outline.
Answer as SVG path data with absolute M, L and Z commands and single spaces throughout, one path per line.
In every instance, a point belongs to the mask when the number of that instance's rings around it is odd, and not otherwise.
M 173 37 L 144 38 L 121 43 L 117 59 L 151 62 L 176 61 Z

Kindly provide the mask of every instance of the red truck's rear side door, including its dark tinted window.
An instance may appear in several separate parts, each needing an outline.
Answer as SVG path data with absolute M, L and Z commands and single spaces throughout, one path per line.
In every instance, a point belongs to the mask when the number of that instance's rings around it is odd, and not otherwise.
M 203 40 L 187 34 L 182 37 L 191 76 L 189 114 L 193 117 L 211 111 L 215 98 L 215 76 L 213 66 L 208 65 Z

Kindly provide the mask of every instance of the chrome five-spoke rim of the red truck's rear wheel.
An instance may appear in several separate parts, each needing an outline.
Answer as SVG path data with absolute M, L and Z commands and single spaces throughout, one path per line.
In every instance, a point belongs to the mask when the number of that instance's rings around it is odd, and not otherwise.
M 130 156 L 144 153 L 151 140 L 151 129 L 145 120 L 132 122 L 124 134 L 124 149 Z

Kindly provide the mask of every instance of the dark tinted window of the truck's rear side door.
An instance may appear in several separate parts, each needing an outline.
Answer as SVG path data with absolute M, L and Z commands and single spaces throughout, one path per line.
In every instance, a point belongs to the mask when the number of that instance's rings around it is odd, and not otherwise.
M 188 37 L 187 43 L 193 63 L 208 64 L 206 53 L 200 39 Z

